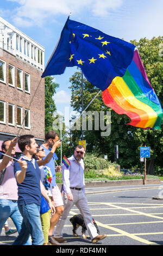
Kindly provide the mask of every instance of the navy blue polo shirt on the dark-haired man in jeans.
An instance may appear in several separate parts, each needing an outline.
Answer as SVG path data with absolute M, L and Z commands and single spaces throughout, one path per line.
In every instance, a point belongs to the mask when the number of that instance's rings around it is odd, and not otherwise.
M 27 170 L 26 177 L 24 181 L 18 186 L 18 205 L 26 205 L 26 204 L 41 204 L 41 190 L 40 190 L 40 179 L 41 173 L 37 162 L 35 161 L 35 167 L 32 161 L 28 161 L 26 159 L 22 159 L 23 161 L 27 161 Z M 14 163 L 14 173 L 18 170 L 21 170 L 20 164 L 16 161 Z

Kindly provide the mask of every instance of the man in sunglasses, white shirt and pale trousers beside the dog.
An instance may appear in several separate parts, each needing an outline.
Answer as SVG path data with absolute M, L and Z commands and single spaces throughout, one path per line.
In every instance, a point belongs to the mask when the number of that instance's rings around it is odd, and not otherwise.
M 66 218 L 73 205 L 76 205 L 80 213 L 84 217 L 87 231 L 91 237 L 92 243 L 102 240 L 106 235 L 98 235 L 95 225 L 92 221 L 91 212 L 89 210 L 87 199 L 85 196 L 84 183 L 84 162 L 83 157 L 85 149 L 82 145 L 78 145 L 74 150 L 74 154 L 68 158 L 70 166 L 68 169 L 62 166 L 62 180 L 64 185 L 64 207 L 65 210 L 54 229 L 54 237 L 58 242 L 67 242 L 62 237 L 62 229 Z M 61 239 L 61 240 L 60 240 Z

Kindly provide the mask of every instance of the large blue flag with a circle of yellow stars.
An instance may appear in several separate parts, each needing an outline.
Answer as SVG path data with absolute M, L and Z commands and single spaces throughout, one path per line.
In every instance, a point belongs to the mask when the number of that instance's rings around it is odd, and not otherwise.
M 68 66 L 79 66 L 85 78 L 104 91 L 116 76 L 125 74 L 134 49 L 129 42 L 68 17 L 41 77 L 60 75 Z

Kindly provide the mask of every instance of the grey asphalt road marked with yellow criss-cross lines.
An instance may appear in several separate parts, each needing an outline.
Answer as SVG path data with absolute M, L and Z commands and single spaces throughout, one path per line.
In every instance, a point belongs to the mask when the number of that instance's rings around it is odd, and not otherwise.
M 107 235 L 104 240 L 96 243 L 98 247 L 163 245 L 163 200 L 153 199 L 162 196 L 162 185 L 88 188 L 86 193 L 92 217 L 98 224 L 100 233 Z M 76 206 L 70 211 L 64 227 L 64 237 L 68 242 L 61 244 L 62 248 L 92 246 L 89 236 L 83 239 L 82 228 L 77 230 L 78 237 L 72 236 L 69 220 L 78 213 Z M 10 228 L 15 228 L 10 219 L 8 223 Z M 18 233 L 15 233 L 7 237 L 3 229 L 0 245 L 12 245 L 17 235 Z

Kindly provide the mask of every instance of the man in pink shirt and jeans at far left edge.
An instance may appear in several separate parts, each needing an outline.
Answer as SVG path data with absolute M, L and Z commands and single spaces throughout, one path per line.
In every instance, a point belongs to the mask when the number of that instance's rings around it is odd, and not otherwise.
M 15 155 L 16 143 L 17 137 L 12 139 L 12 141 L 7 139 L 2 143 L 2 151 L 5 155 L 3 156 L 3 159 L 0 160 L 0 234 L 3 225 L 9 217 L 14 222 L 18 233 L 20 233 L 23 220 L 17 205 L 18 195 L 17 183 L 14 176 L 14 161 L 9 157 Z M 2 171 L 4 172 L 4 175 L 2 174 Z M 26 245 L 30 244 L 31 242 L 29 239 Z

